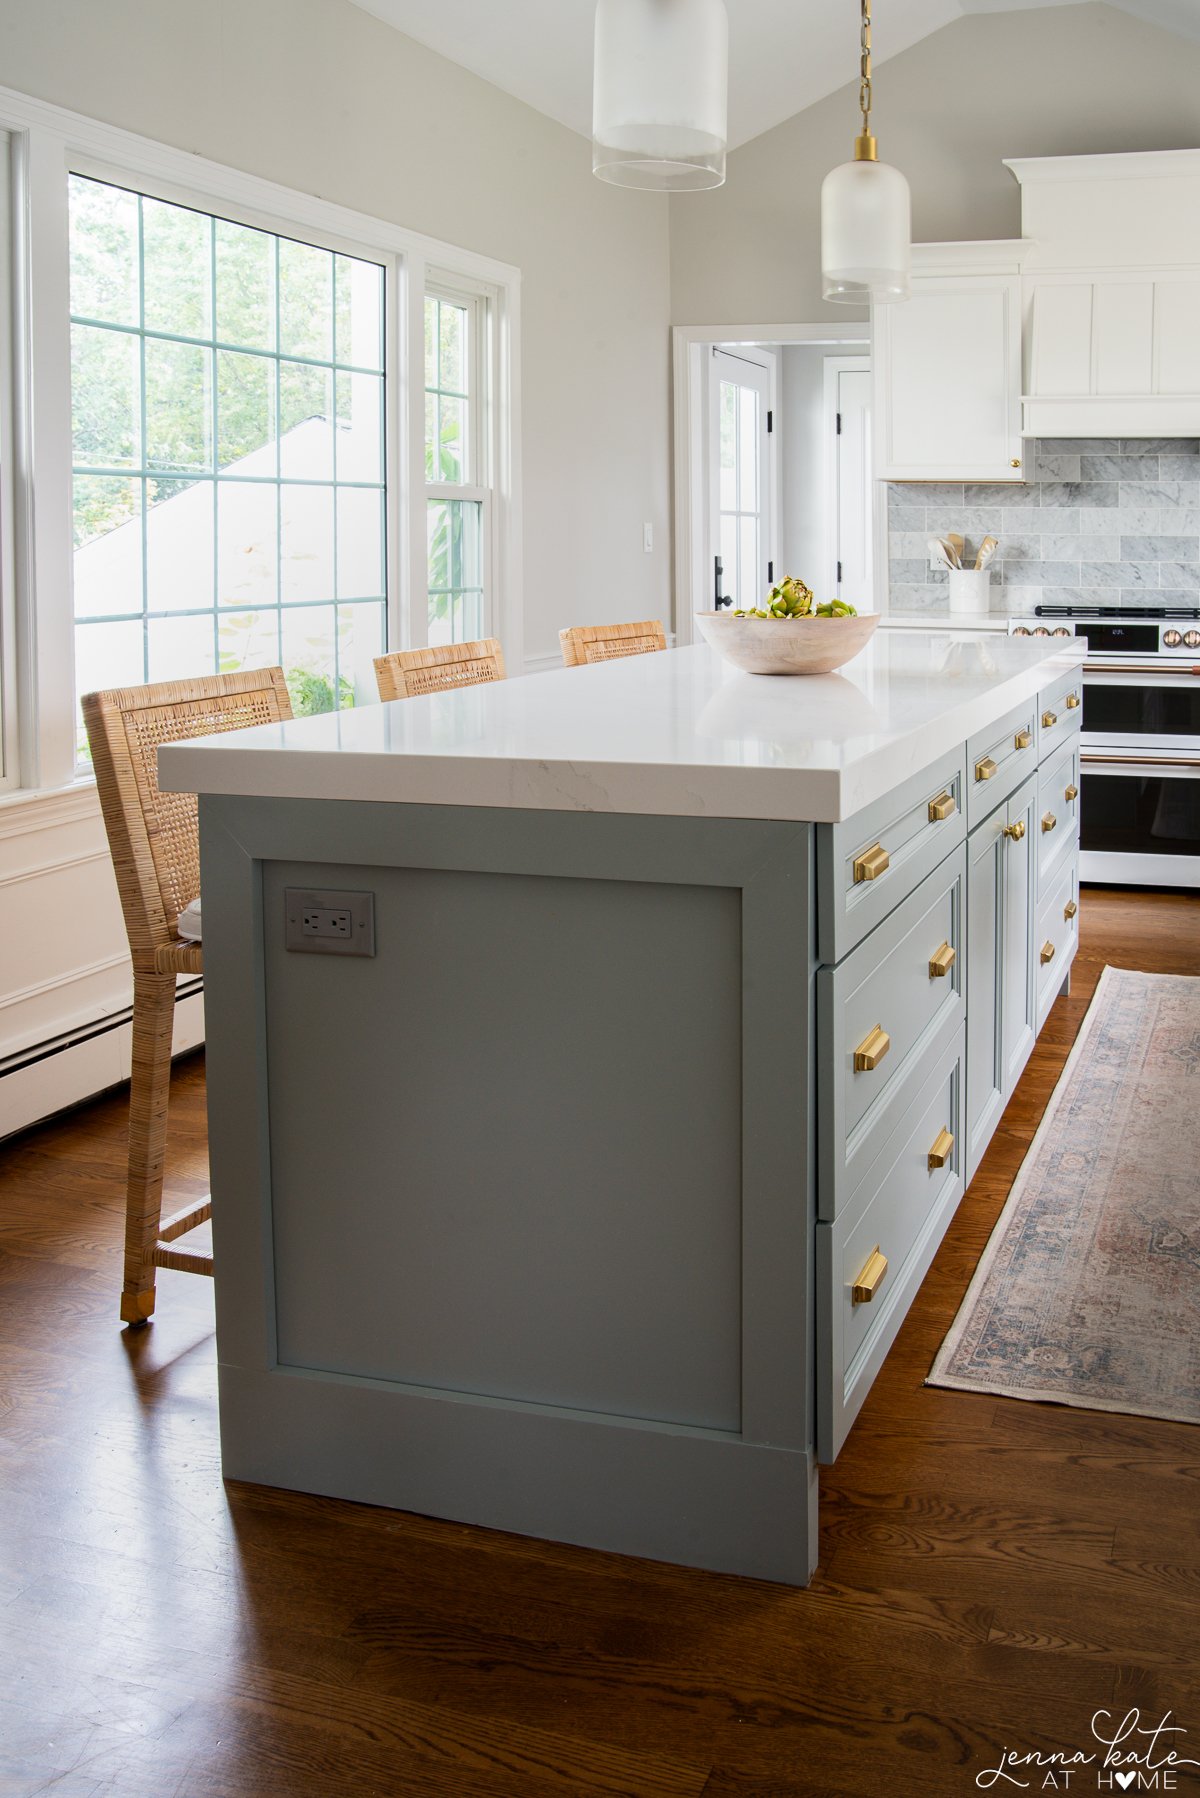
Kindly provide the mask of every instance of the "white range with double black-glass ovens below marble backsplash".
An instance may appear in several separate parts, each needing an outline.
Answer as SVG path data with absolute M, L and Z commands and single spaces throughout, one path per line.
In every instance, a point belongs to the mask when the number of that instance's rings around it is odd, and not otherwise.
M 1079 876 L 1200 886 L 1200 606 L 1038 606 L 1011 636 L 1085 636 Z

